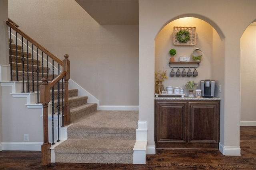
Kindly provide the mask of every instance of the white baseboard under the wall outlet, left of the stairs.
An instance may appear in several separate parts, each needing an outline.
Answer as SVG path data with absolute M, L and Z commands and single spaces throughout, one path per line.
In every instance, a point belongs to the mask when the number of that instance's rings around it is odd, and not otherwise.
M 41 151 L 42 142 L 1 142 L 1 150 L 36 150 Z

